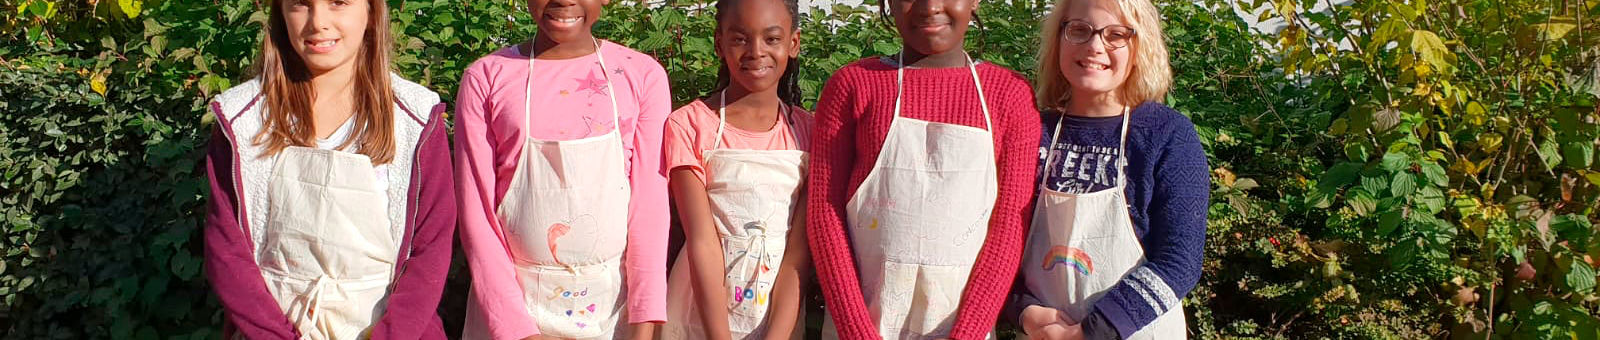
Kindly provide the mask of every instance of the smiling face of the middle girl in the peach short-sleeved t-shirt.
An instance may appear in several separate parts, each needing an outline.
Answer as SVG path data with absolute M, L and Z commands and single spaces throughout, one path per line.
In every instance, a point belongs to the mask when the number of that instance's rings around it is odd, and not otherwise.
M 747 91 L 778 87 L 789 59 L 800 56 L 800 32 L 782 0 L 734 2 L 720 13 L 717 56 L 734 83 Z

